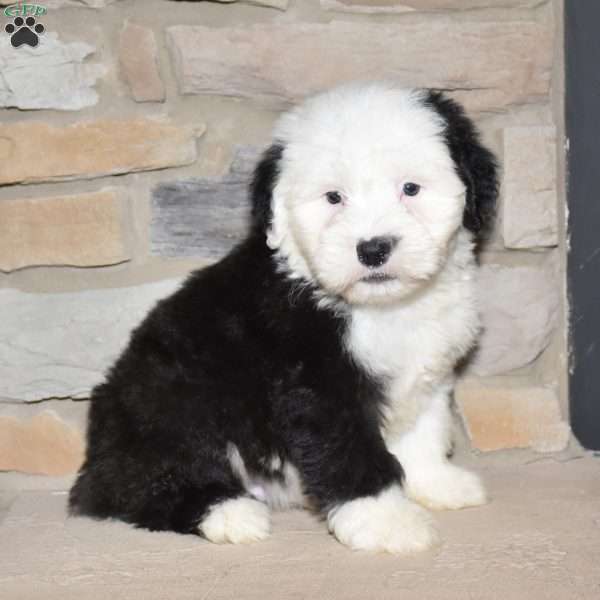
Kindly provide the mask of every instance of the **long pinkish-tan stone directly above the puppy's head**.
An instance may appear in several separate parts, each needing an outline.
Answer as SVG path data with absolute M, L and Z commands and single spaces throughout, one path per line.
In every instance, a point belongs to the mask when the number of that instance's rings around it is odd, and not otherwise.
M 450 90 L 471 110 L 549 93 L 552 25 L 537 21 L 266 23 L 174 26 L 167 39 L 184 94 L 285 105 L 332 85 L 388 78 Z M 323 60 L 327 57 L 327 60 Z

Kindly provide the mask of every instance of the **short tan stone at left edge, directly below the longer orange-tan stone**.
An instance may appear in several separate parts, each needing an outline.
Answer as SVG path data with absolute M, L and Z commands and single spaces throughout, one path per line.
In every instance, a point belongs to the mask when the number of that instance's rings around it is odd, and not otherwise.
M 130 255 L 115 190 L 0 202 L 0 270 L 112 265 Z

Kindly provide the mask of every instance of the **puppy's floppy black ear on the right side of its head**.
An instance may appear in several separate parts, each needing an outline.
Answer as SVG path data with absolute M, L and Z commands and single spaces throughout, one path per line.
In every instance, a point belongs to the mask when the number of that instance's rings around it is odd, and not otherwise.
M 446 122 L 446 144 L 458 176 L 467 188 L 463 225 L 477 237 L 484 237 L 496 213 L 496 158 L 481 144 L 479 132 L 460 104 L 435 90 L 428 91 L 425 104 Z

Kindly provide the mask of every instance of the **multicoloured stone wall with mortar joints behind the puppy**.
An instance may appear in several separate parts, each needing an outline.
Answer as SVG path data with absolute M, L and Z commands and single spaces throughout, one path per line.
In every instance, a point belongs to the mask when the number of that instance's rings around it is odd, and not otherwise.
M 456 393 L 474 447 L 567 444 L 558 0 L 45 6 L 38 47 L 0 34 L 0 470 L 75 470 L 132 326 L 243 235 L 279 112 L 381 77 L 447 90 L 503 164 Z

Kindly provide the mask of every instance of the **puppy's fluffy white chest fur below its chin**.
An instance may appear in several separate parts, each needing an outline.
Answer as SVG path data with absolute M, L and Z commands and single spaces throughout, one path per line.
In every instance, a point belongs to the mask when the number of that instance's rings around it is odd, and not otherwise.
M 352 311 L 347 348 L 368 371 L 388 381 L 386 429 L 410 426 L 479 330 L 470 244 L 459 243 L 436 278 L 418 294 L 388 306 Z M 385 433 L 385 432 L 384 432 Z

